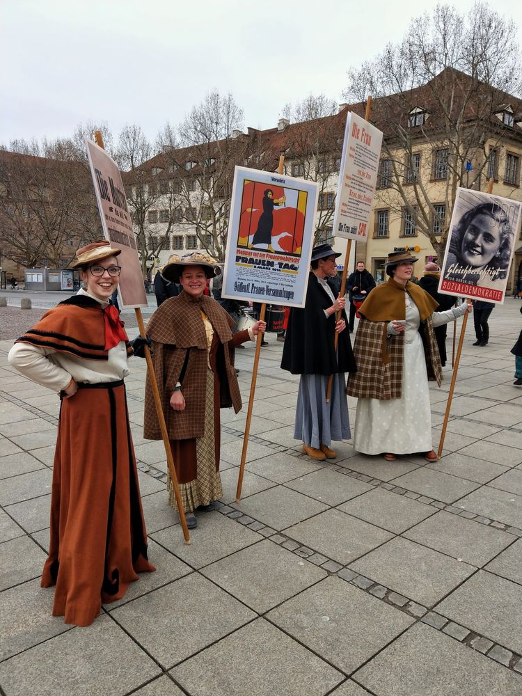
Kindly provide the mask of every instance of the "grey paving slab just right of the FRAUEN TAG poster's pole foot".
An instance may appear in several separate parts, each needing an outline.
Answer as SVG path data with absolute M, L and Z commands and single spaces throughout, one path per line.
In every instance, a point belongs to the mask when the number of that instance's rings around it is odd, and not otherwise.
M 232 507 L 280 531 L 322 512 L 327 506 L 301 493 L 278 486 L 234 503 Z

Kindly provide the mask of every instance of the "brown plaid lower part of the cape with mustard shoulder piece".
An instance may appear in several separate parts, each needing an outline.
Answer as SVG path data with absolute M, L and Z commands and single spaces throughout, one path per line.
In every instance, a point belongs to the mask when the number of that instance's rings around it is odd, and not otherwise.
M 402 393 L 404 333 L 386 336 L 388 322 L 370 322 L 361 317 L 354 355 L 357 372 L 349 375 L 346 393 L 359 399 L 398 399 Z M 441 386 L 441 358 L 433 330 L 432 317 L 421 322 L 419 332 L 424 343 L 428 379 Z

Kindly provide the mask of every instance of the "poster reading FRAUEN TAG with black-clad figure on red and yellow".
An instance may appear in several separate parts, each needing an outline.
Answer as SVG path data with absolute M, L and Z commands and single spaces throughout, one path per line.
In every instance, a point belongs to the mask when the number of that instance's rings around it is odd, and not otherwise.
M 222 296 L 303 307 L 319 187 L 236 167 Z

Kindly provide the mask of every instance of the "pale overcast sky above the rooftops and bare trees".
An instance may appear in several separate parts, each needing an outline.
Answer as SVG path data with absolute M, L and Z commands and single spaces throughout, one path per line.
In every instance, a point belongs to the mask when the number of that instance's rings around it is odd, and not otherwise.
M 213 88 L 232 93 L 245 127 L 274 127 L 287 102 L 310 93 L 342 102 L 349 66 L 401 40 L 435 5 L 0 0 L 0 143 L 70 136 L 90 119 L 115 135 L 136 122 L 153 141 Z M 494 9 L 521 16 L 518 0 Z

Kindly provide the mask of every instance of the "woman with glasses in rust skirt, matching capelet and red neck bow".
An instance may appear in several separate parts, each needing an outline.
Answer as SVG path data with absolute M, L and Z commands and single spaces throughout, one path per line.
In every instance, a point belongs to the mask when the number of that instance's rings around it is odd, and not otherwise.
M 49 557 L 42 587 L 56 585 L 54 616 L 88 626 L 102 602 L 121 599 L 147 558 L 136 460 L 123 378 L 132 355 L 110 297 L 120 249 L 94 242 L 77 251 L 84 289 L 19 338 L 9 362 L 60 393 Z

